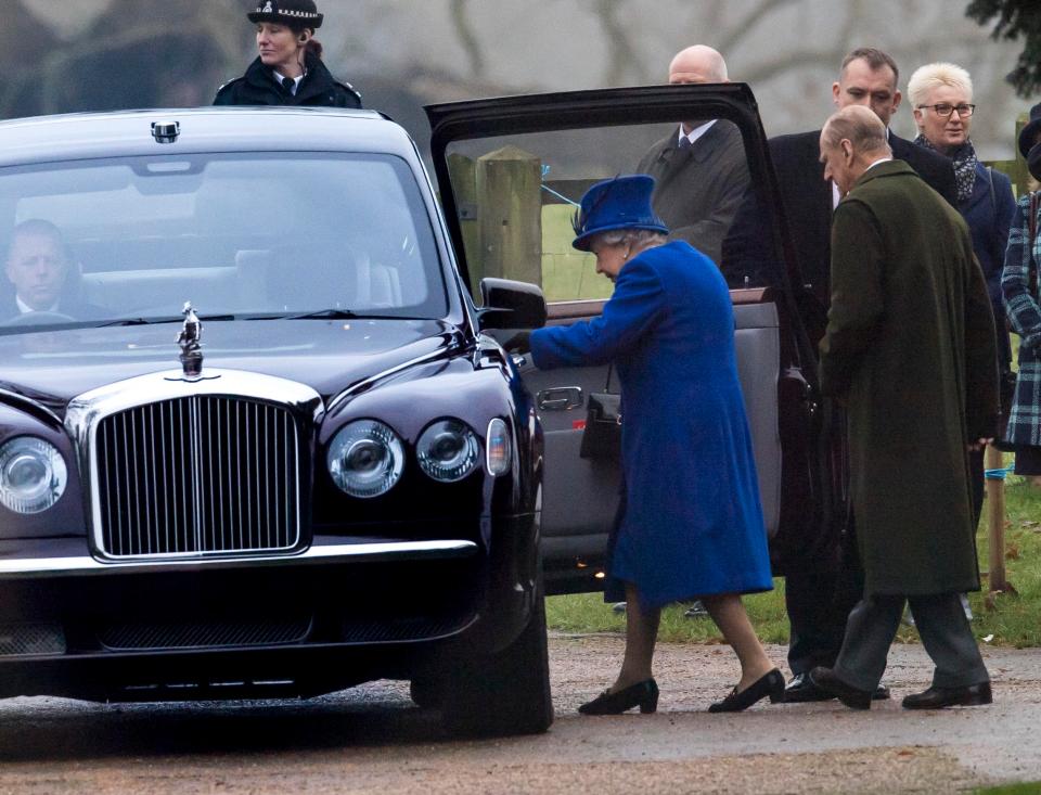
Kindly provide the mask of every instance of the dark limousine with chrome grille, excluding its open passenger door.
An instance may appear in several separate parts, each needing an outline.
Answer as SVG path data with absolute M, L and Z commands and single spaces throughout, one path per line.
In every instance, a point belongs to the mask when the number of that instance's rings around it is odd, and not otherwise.
M 541 429 L 484 330 L 545 305 L 475 309 L 404 131 L 123 113 L 0 152 L 0 695 L 395 677 L 544 730 Z

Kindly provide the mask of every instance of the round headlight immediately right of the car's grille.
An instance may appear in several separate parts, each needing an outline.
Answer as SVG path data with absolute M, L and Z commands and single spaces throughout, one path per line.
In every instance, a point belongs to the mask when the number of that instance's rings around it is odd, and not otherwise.
M 359 420 L 333 437 L 326 462 L 333 482 L 351 497 L 380 497 L 401 478 L 404 450 L 382 422 Z

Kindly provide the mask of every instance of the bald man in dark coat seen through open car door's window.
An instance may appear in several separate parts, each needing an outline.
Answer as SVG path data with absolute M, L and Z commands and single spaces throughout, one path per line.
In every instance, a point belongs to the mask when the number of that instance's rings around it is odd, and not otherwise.
M 696 44 L 669 64 L 669 84 L 729 82 L 716 50 Z M 637 170 L 657 182 L 654 210 L 671 229 L 712 261 L 748 188 L 741 132 L 730 121 L 684 121 L 641 158 Z

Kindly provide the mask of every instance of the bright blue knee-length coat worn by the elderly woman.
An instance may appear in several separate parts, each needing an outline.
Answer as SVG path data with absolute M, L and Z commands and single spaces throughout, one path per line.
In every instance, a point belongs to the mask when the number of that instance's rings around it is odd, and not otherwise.
M 650 606 L 773 587 L 733 308 L 708 257 L 685 242 L 643 252 L 602 317 L 532 332 L 531 356 L 543 369 L 617 366 L 626 511 L 613 578 Z

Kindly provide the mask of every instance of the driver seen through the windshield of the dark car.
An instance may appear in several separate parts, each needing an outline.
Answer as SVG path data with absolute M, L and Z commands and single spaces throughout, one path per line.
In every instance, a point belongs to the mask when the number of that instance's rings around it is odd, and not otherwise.
M 47 312 L 55 320 L 90 320 L 100 310 L 74 295 L 77 272 L 61 230 L 50 221 L 34 219 L 14 228 L 4 273 L 14 294 L 0 298 L 0 318 L 20 320 Z M 41 318 L 42 320 L 42 318 Z M 30 322 L 26 319 L 26 322 Z

